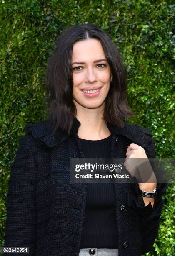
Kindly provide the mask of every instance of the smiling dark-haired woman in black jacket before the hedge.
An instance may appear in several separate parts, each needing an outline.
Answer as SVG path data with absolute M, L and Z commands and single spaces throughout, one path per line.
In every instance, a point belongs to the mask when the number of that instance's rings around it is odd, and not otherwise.
M 49 119 L 27 125 L 12 166 L 5 247 L 42 256 L 150 251 L 167 184 L 70 183 L 71 158 L 155 157 L 150 130 L 124 123 L 133 113 L 110 37 L 91 23 L 68 27 L 48 63 L 46 85 Z

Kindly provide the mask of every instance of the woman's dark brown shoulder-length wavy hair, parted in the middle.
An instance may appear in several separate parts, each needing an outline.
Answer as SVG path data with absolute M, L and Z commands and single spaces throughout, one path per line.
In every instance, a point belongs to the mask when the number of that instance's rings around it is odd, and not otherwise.
M 48 60 L 45 75 L 45 89 L 50 96 L 47 102 L 47 115 L 53 120 L 54 132 L 60 129 L 70 133 L 72 129 L 77 113 L 72 96 L 72 48 L 75 42 L 91 38 L 101 42 L 113 77 L 105 99 L 105 122 L 123 127 L 124 121 L 135 115 L 128 108 L 127 72 L 110 36 L 92 23 L 71 25 L 58 37 L 55 50 Z

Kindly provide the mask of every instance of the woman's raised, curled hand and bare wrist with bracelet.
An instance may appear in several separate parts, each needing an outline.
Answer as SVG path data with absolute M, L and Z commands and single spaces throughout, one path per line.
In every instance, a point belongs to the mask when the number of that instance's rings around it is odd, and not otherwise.
M 135 143 L 132 143 L 130 144 L 130 146 L 126 151 L 126 156 L 127 157 L 125 159 L 126 161 L 124 162 L 124 166 L 130 173 L 130 175 L 132 177 L 135 176 L 137 179 L 138 172 L 139 172 L 140 174 L 139 177 L 141 177 L 142 180 L 146 181 L 146 183 L 138 183 L 140 189 L 144 191 L 152 192 L 157 186 L 157 179 L 153 172 L 152 166 L 150 165 L 148 156 L 145 153 L 145 149 Z M 133 160 L 130 161 L 130 159 L 133 159 Z M 147 172 L 146 176 L 145 176 L 145 172 L 142 172 L 141 165 L 143 166 L 143 164 L 144 165 L 146 164 L 146 172 Z M 145 206 L 148 205 L 149 202 L 151 202 L 153 207 L 154 198 L 143 197 L 143 200 L 145 202 Z

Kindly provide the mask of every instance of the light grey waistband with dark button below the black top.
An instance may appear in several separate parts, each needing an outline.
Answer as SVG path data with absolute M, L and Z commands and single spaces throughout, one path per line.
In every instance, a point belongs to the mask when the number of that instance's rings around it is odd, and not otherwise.
M 118 256 L 118 249 L 107 249 L 107 248 L 83 248 L 80 249 L 78 256 Z

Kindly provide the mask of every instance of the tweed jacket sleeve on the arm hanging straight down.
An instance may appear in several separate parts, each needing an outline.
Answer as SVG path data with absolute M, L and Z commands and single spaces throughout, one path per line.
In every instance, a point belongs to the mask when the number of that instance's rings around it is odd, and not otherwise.
M 15 160 L 11 166 L 7 193 L 7 218 L 4 247 L 29 247 L 35 255 L 36 238 L 36 164 L 34 141 L 29 134 L 21 136 Z M 16 256 L 17 253 L 5 254 Z

